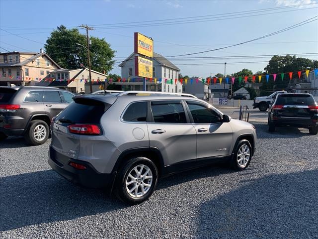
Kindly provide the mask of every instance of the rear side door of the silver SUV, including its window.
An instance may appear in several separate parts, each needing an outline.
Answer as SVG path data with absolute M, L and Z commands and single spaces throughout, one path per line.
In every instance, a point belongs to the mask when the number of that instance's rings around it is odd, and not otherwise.
M 152 101 L 148 122 L 150 146 L 157 147 L 165 165 L 196 159 L 196 132 L 180 100 Z

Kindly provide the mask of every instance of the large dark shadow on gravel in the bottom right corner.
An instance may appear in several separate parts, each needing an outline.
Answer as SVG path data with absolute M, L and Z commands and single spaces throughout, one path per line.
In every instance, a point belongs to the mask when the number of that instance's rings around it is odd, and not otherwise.
M 201 205 L 196 238 L 315 238 L 318 170 L 270 175 Z

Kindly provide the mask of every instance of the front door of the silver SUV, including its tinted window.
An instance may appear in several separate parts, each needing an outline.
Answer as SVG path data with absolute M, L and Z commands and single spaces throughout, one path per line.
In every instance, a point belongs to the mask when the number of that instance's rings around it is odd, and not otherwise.
M 228 122 L 212 107 L 196 101 L 186 101 L 196 131 L 197 157 L 208 158 L 231 154 L 233 131 Z

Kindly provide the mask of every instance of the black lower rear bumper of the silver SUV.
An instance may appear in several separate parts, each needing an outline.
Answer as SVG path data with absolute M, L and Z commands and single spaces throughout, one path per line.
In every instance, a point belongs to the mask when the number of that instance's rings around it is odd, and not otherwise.
M 86 169 L 79 170 L 73 168 L 69 165 L 71 161 L 85 165 Z M 90 163 L 69 158 L 55 151 L 51 146 L 48 163 L 54 171 L 74 184 L 87 188 L 108 188 L 110 192 L 112 190 L 116 172 L 98 173 Z

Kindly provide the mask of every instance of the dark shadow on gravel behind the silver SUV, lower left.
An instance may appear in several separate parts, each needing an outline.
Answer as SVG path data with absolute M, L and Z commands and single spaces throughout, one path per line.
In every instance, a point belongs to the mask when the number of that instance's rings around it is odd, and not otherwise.
M 126 207 L 104 191 L 76 186 L 53 170 L 2 177 L 0 184 L 0 231 Z

